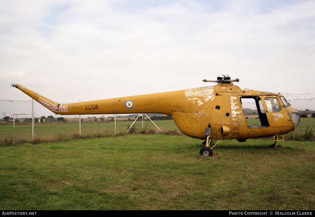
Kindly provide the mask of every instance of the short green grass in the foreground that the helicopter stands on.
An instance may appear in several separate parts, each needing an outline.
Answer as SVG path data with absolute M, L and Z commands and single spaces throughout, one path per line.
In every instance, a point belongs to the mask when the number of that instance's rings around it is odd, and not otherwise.
M 124 135 L 0 148 L 2 210 L 313 210 L 315 143 Z

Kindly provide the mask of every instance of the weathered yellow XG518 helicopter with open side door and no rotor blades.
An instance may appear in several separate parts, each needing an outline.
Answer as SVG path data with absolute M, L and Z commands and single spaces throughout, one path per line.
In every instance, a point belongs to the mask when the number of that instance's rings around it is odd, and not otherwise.
M 217 77 L 214 86 L 119 97 L 95 101 L 56 103 L 21 85 L 13 84 L 55 114 L 140 114 L 160 113 L 172 116 L 185 135 L 205 140 L 200 155 L 212 156 L 212 149 L 222 140 L 273 137 L 284 140 L 282 134 L 292 132 L 300 122 L 300 114 L 281 94 L 240 89 L 228 76 Z M 249 123 L 243 104 L 254 105 L 256 123 Z M 247 109 L 248 110 L 248 109 Z M 251 119 L 252 121 L 253 119 Z M 212 148 L 211 143 L 219 140 Z

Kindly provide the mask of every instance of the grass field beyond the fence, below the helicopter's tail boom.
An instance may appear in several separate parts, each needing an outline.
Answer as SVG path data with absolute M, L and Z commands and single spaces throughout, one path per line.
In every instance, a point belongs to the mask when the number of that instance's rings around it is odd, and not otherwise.
M 126 132 L 134 121 L 117 121 L 116 132 Z M 173 120 L 156 120 L 154 123 L 162 131 L 175 130 L 180 133 Z M 20 144 L 25 142 L 32 142 L 32 128 L 31 124 L 17 124 L 0 125 L 0 144 Z M 133 125 L 136 129 L 142 128 L 142 121 L 136 121 Z M 150 129 L 154 132 L 160 132 L 151 121 L 144 121 L 144 129 Z M 43 142 L 58 141 L 60 138 L 79 137 L 79 124 L 35 124 L 34 138 Z M 82 123 L 81 136 L 82 137 L 102 137 L 108 134 L 114 134 L 115 122 L 103 123 Z

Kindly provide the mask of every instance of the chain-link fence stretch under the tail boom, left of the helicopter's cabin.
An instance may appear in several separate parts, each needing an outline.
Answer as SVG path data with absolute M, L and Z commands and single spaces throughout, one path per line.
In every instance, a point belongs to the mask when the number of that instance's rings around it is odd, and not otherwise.
M 161 114 L 57 115 L 34 100 L 0 100 L 0 112 L 0 144 L 102 137 L 127 131 L 180 133 L 172 118 Z

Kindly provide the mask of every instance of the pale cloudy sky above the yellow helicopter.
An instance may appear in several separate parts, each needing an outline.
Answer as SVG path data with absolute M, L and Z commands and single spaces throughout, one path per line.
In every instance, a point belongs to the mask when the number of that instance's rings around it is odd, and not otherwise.
M 315 1 L 14 1 L 0 6 L 0 99 L 62 103 L 211 86 L 315 93 Z

